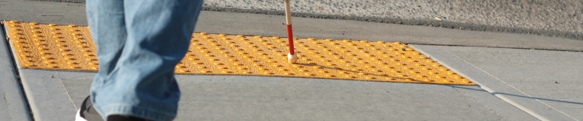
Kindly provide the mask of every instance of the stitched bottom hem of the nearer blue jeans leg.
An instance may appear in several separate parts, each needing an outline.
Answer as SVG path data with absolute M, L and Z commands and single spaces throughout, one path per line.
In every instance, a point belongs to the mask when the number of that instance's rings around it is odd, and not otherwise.
M 136 106 L 129 106 L 129 105 L 108 105 L 101 107 L 101 111 L 103 112 L 101 116 L 103 119 L 107 120 L 107 116 L 110 115 L 128 115 L 128 116 L 135 116 L 138 118 L 144 118 L 149 120 L 158 120 L 158 121 L 171 121 L 176 117 L 176 114 L 171 113 L 164 113 L 158 112 L 151 109 L 139 108 Z

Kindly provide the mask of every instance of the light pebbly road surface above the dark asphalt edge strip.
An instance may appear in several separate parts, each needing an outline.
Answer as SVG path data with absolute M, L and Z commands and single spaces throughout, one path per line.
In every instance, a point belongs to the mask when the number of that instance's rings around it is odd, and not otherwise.
M 473 23 L 583 33 L 581 0 L 292 0 L 291 10 L 324 15 Z M 283 1 L 205 0 L 205 6 L 284 10 Z

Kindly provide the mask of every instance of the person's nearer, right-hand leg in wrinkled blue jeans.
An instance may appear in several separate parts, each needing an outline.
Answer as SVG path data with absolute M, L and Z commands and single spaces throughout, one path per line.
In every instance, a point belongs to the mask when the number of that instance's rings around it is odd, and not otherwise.
M 127 40 L 113 72 L 92 91 L 104 119 L 175 118 L 180 90 L 174 66 L 188 50 L 201 7 L 202 0 L 124 1 Z

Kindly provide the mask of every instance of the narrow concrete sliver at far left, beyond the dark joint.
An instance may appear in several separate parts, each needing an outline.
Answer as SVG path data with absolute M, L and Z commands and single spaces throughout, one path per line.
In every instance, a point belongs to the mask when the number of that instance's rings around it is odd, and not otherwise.
M 2 29 L 0 35 L 0 120 L 30 120 Z

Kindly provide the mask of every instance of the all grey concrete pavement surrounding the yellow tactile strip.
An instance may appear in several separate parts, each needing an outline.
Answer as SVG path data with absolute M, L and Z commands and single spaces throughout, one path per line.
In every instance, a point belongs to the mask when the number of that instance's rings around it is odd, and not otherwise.
M 8 4 L 12 6 L 0 9 L 9 13 L 0 14 L 2 20 L 86 24 L 81 17 L 85 16 L 83 4 L 15 0 Z M 37 7 L 43 5 L 51 7 Z M 68 10 L 61 19 L 41 16 L 60 14 L 63 8 L 75 10 Z M 293 19 L 294 32 L 300 38 L 410 44 L 479 86 L 177 75 L 182 98 L 176 120 L 583 120 L 578 113 L 583 111 L 583 97 L 577 93 L 583 91 L 583 52 L 568 52 L 583 51 L 583 41 L 350 20 Z M 196 32 L 286 37 L 283 20 L 283 16 L 202 12 Z M 6 51 L 9 49 L 0 50 Z M 0 64 L 9 66 L 9 57 L 0 56 L 5 62 Z M 4 72 L 15 72 L 9 69 L 13 68 L 2 68 L 0 74 L 9 77 L 11 73 Z M 95 74 L 33 69 L 16 72 L 37 121 L 73 120 Z M 28 115 L 22 115 L 28 114 L 28 108 L 26 100 L 18 100 L 23 94 L 18 93 L 17 79 L 3 79 L 6 81 L 0 81 L 0 91 L 12 95 L 5 100 L 20 106 L 5 108 L 0 102 L 0 113 L 11 112 L 0 115 L 0 120 L 28 120 Z

